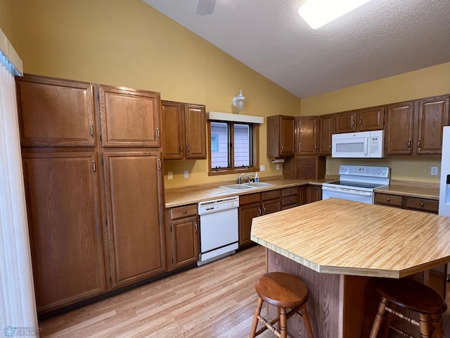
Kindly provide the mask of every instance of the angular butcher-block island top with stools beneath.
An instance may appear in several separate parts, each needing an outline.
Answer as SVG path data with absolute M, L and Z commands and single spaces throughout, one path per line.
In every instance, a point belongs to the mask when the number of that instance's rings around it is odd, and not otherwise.
M 252 241 L 319 273 L 401 278 L 450 261 L 450 218 L 326 199 L 254 218 Z

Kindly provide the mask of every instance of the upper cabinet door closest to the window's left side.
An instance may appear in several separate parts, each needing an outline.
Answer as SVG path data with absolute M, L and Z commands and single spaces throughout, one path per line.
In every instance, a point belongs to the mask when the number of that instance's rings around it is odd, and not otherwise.
M 205 106 L 184 104 L 186 158 L 206 158 Z

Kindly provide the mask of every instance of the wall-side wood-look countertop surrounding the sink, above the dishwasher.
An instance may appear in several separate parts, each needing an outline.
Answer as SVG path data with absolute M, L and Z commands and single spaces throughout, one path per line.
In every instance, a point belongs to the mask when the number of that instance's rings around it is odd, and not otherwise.
M 336 177 L 324 178 L 322 180 L 287 180 L 283 178 L 259 180 L 259 182 L 266 182 L 274 185 L 272 185 L 271 187 L 248 189 L 238 192 L 219 187 L 219 185 L 231 184 L 236 182 L 221 182 L 215 184 L 199 184 L 188 187 L 177 187 L 165 190 L 165 207 L 173 208 L 174 206 L 185 206 L 186 204 L 208 201 L 210 199 L 221 199 L 230 196 L 255 194 L 258 192 L 266 192 L 269 190 L 283 189 L 288 187 L 297 187 L 307 184 L 316 184 L 321 186 L 323 182 L 330 182 L 333 180 L 336 180 Z

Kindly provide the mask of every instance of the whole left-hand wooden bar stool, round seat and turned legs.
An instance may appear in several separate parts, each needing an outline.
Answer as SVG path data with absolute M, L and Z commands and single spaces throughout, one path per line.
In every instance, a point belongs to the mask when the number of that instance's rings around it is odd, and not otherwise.
M 307 307 L 305 306 L 309 292 L 304 282 L 288 273 L 266 273 L 259 277 L 255 289 L 259 297 L 255 309 L 255 316 L 253 317 L 250 338 L 256 337 L 267 329 L 271 330 L 276 337 L 287 338 L 286 323 L 288 318 L 292 317 L 295 313 L 298 313 L 303 318 L 308 337 L 314 338 Z M 261 315 L 263 301 L 278 308 L 278 317 L 271 322 Z M 286 313 L 287 308 L 291 309 L 288 313 Z M 261 321 L 264 326 L 257 331 L 258 321 Z M 275 324 L 278 322 L 279 327 L 277 329 Z

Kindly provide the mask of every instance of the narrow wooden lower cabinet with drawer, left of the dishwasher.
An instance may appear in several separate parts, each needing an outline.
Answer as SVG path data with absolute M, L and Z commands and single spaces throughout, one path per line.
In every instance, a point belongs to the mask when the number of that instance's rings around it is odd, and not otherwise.
M 168 270 L 197 262 L 200 253 L 197 204 L 167 209 L 166 219 Z

